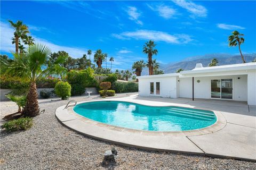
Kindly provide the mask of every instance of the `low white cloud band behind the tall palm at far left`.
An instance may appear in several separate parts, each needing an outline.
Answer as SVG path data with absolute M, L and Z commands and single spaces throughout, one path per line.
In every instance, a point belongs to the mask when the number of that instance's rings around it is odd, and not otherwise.
M 31 35 L 35 38 L 36 43 L 41 43 L 49 47 L 52 52 L 58 52 L 59 50 L 65 50 L 70 56 L 72 57 L 82 57 L 83 54 L 87 53 L 87 50 L 77 48 L 77 47 L 67 47 L 67 46 L 60 46 L 57 44 L 53 44 L 50 41 L 47 41 L 43 38 L 36 37 Z M 14 52 L 15 46 L 12 44 L 11 38 L 13 37 L 13 29 L 10 27 L 9 24 L 1 22 L 1 51 L 2 52 Z

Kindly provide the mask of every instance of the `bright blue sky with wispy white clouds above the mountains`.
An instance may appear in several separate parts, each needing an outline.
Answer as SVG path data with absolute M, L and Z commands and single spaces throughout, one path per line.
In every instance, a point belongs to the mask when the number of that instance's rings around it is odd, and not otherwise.
M 114 69 L 147 60 L 142 47 L 155 40 L 158 62 L 228 53 L 227 37 L 244 33 L 244 53 L 256 50 L 255 1 L 1 1 L 1 54 L 14 51 L 7 20 L 22 20 L 31 35 L 53 52 L 82 57 L 87 49 L 113 56 Z M 109 64 L 109 63 L 108 63 Z

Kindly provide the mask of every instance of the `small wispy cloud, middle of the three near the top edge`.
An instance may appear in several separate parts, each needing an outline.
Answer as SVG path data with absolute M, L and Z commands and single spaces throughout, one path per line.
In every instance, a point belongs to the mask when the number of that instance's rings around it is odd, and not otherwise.
M 165 19 L 174 18 L 174 15 L 177 14 L 177 11 L 174 8 L 163 4 L 156 6 L 148 5 L 148 7 L 153 11 L 157 11 L 158 14 Z

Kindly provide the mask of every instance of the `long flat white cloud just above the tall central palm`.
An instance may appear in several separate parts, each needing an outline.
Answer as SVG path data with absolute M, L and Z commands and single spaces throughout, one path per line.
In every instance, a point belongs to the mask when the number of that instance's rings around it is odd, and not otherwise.
M 118 36 L 115 36 L 118 39 L 127 39 L 127 38 L 134 38 L 134 39 L 143 39 L 143 40 L 155 40 L 155 41 L 164 41 L 166 43 L 172 44 L 181 44 L 181 43 L 188 43 L 192 41 L 189 35 L 185 34 L 176 34 L 170 35 L 169 33 L 162 32 L 162 31 L 153 31 L 153 30 L 138 30 L 134 32 L 123 32 Z

